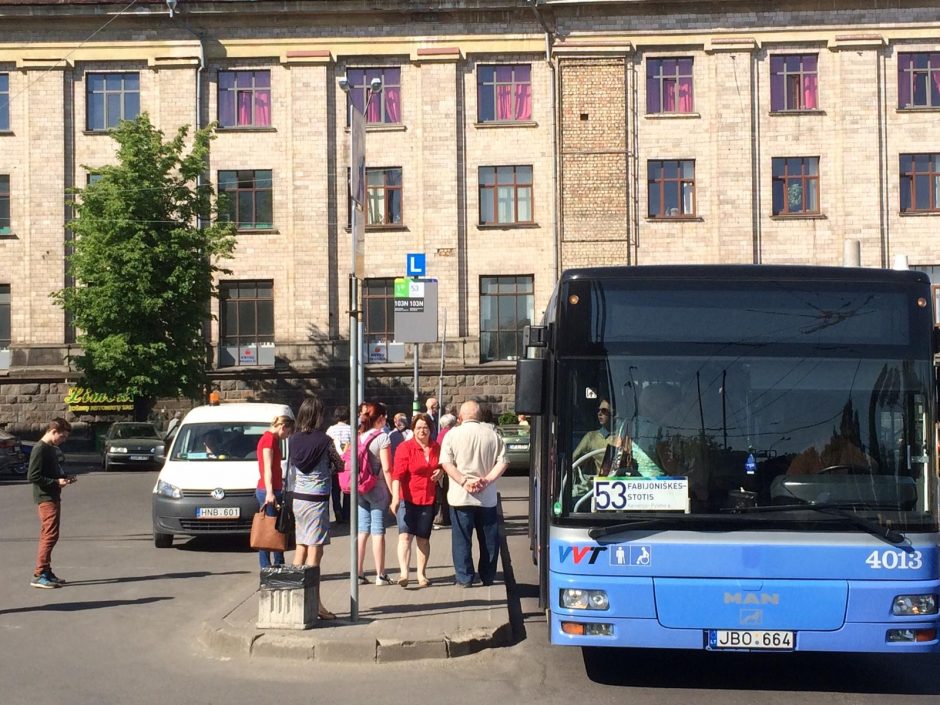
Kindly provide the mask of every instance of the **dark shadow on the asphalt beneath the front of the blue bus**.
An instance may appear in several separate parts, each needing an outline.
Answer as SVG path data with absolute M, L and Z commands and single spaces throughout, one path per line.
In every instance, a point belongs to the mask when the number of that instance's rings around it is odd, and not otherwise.
M 582 649 L 582 654 L 588 678 L 610 686 L 940 694 L 940 655 L 934 654 L 715 654 L 600 647 Z

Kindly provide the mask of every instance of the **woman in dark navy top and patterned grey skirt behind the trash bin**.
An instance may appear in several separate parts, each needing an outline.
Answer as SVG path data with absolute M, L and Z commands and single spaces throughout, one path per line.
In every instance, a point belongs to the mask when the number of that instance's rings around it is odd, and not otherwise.
M 294 565 L 319 566 L 323 547 L 330 542 L 330 488 L 333 468 L 341 464 L 333 439 L 320 430 L 323 402 L 304 399 L 297 414 L 296 433 L 290 444 L 288 489 L 294 507 L 297 550 Z M 318 605 L 320 619 L 336 615 Z

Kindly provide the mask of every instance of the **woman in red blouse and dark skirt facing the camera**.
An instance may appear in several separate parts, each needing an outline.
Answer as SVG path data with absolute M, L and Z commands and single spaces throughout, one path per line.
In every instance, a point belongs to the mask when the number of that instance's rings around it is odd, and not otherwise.
M 411 539 L 418 544 L 418 587 L 427 587 L 428 558 L 431 556 L 431 523 L 434 520 L 434 491 L 443 477 L 441 447 L 431 440 L 431 418 L 415 414 L 411 422 L 414 436 L 395 453 L 392 472 L 392 513 L 398 518 L 398 584 L 408 585 Z

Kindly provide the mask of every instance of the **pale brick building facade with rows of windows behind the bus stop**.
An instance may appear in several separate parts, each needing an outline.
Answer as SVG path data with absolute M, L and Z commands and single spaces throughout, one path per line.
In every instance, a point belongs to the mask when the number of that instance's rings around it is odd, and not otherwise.
M 424 253 L 445 404 L 501 410 L 516 331 L 564 268 L 840 264 L 850 240 L 863 266 L 932 272 L 937 6 L 0 2 L 0 422 L 66 411 L 74 337 L 49 293 L 66 284 L 67 191 L 113 158 L 108 100 L 168 135 L 222 122 L 209 173 L 252 205 L 208 326 L 223 398 L 331 405 L 348 396 L 352 237 L 338 80 L 381 75 L 366 335 L 388 337 L 390 282 Z M 229 114 L 242 81 L 254 107 Z M 439 345 L 420 360 L 423 398 Z M 370 364 L 366 384 L 407 409 L 410 359 Z

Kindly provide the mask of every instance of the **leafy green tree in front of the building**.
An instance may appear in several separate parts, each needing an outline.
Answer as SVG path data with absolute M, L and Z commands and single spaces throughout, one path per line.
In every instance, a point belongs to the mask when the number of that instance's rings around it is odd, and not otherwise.
M 187 126 L 164 142 L 146 113 L 125 120 L 111 132 L 117 164 L 89 168 L 91 183 L 75 189 L 74 283 L 53 299 L 78 329 L 82 384 L 133 395 L 138 418 L 158 396 L 195 398 L 206 384 L 203 326 L 235 249 L 234 225 L 199 183 L 214 131 L 197 131 L 186 151 Z

